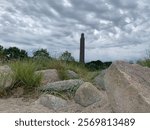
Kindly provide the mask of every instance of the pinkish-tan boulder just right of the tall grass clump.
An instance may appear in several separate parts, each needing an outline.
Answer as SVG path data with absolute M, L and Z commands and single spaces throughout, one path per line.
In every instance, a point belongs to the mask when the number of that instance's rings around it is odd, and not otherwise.
M 40 71 L 36 71 L 36 73 L 42 74 L 42 76 L 43 76 L 42 84 L 43 85 L 60 80 L 56 69 L 40 70 Z

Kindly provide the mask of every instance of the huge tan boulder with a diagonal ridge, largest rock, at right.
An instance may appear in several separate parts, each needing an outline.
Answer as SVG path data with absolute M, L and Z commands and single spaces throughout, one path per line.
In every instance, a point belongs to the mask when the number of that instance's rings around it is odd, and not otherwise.
M 150 68 L 117 61 L 104 79 L 114 112 L 150 112 Z

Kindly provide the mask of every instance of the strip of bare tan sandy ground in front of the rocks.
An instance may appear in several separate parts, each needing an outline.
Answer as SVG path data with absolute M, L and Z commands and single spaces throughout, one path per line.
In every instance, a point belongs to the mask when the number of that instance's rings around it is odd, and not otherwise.
M 110 113 L 112 112 L 111 107 L 108 103 L 106 95 L 104 94 L 103 99 L 96 102 L 88 107 L 82 107 L 75 103 L 73 100 L 68 101 L 68 106 L 61 108 L 57 111 L 49 109 L 41 105 L 37 99 L 26 99 L 26 98 L 7 98 L 0 99 L 0 113 Z

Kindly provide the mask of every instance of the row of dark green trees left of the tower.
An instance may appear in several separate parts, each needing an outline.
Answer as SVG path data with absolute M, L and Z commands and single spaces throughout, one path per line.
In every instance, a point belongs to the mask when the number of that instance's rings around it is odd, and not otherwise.
M 33 56 L 29 57 L 26 50 L 19 49 L 17 47 L 9 47 L 4 48 L 0 45 L 0 61 L 8 61 L 8 60 L 23 60 L 27 58 L 49 58 L 53 59 L 47 49 L 38 49 L 33 52 Z M 74 57 L 71 55 L 70 52 L 65 51 L 63 52 L 60 57 L 60 60 L 64 61 L 75 61 Z

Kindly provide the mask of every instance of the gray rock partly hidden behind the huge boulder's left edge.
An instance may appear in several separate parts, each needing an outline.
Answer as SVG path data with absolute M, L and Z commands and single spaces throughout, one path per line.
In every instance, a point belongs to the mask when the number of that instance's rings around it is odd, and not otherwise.
M 104 83 L 104 76 L 106 70 L 102 70 L 98 76 L 94 78 L 94 84 L 99 90 L 106 90 L 105 83 Z

